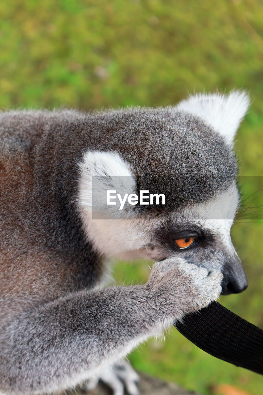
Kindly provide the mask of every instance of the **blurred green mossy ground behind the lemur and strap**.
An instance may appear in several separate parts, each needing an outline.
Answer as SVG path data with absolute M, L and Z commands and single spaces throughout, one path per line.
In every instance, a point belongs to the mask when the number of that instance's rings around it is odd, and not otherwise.
M 175 104 L 188 92 L 250 91 L 237 134 L 246 211 L 232 237 L 249 288 L 221 297 L 263 327 L 263 2 L 260 0 L 9 0 L 0 3 L 0 108 Z M 257 176 L 257 177 L 255 177 Z M 145 281 L 148 263 L 119 262 L 125 284 Z M 263 393 L 261 376 L 205 354 L 175 329 L 130 355 L 164 379 L 218 394 L 219 383 Z

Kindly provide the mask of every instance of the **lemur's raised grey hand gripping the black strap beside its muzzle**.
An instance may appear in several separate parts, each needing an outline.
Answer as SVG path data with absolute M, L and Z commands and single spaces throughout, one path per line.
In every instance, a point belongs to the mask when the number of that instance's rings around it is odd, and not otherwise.
M 187 263 L 182 258 L 168 258 L 155 263 L 146 284 L 163 318 L 180 318 L 200 310 L 216 300 L 223 275 Z

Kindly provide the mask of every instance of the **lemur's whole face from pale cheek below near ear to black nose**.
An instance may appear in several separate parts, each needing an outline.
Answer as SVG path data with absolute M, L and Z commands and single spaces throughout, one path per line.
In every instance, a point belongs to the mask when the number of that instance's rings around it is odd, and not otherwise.
M 88 234 L 98 250 L 118 259 L 160 261 L 180 256 L 189 263 L 224 274 L 222 293 L 248 286 L 230 229 L 239 204 L 235 183 L 205 203 L 158 217 L 88 220 Z

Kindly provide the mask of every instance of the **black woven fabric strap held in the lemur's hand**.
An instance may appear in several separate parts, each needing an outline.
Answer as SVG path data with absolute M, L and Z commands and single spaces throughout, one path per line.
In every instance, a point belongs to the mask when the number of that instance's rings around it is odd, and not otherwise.
M 208 354 L 263 374 L 263 331 L 220 303 L 211 303 L 174 325 Z

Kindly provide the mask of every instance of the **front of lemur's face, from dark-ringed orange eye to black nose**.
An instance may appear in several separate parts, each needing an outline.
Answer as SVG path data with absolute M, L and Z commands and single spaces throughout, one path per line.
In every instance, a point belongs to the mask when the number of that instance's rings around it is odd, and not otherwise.
M 156 229 L 157 243 L 149 255 L 163 259 L 178 254 L 189 263 L 224 274 L 222 293 L 238 293 L 248 286 L 230 229 L 239 205 L 235 183 L 213 199 L 175 212 Z

